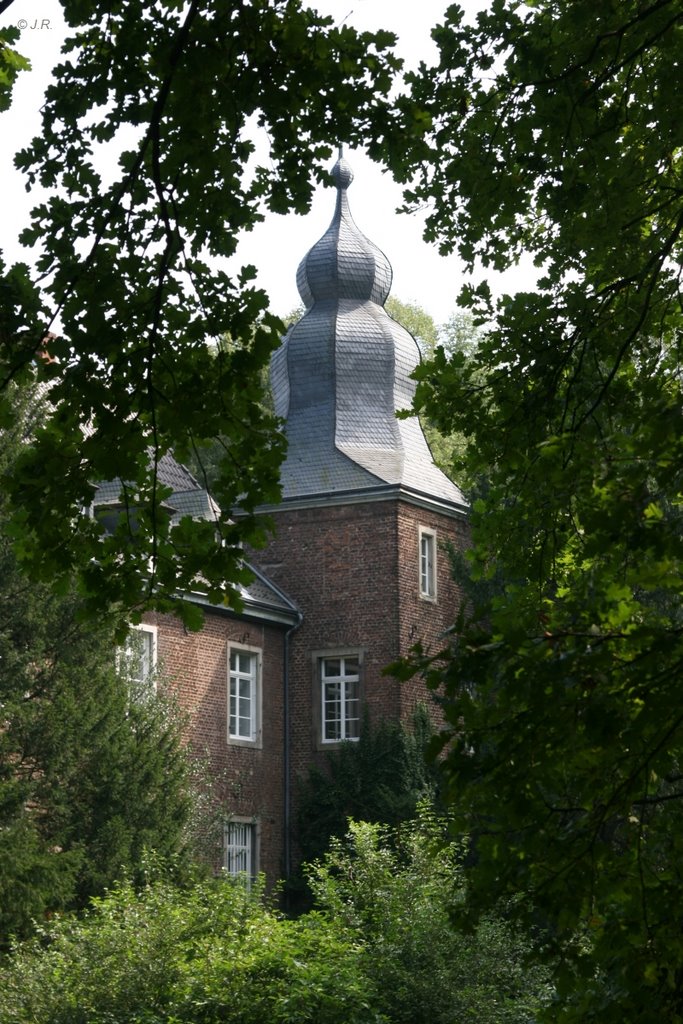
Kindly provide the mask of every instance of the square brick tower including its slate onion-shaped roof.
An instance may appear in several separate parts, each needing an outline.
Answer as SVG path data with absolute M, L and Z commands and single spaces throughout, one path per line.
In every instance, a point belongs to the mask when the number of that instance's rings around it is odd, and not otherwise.
M 306 311 L 271 366 L 289 442 L 275 536 L 257 561 L 301 611 L 292 634 L 293 780 L 371 720 L 410 721 L 420 684 L 382 670 L 416 640 L 434 647 L 458 594 L 445 546 L 466 543 L 466 502 L 434 465 L 416 417 L 415 339 L 384 309 L 386 256 L 356 227 L 343 157 L 332 222 L 299 266 Z

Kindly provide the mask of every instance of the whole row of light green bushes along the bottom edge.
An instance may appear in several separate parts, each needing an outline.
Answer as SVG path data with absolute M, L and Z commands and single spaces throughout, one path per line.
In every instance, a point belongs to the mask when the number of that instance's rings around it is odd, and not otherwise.
M 0 966 L 0 1024 L 527 1024 L 547 994 L 530 944 L 492 915 L 453 932 L 459 849 L 423 818 L 400 848 L 352 824 L 297 921 L 234 880 L 119 886 Z

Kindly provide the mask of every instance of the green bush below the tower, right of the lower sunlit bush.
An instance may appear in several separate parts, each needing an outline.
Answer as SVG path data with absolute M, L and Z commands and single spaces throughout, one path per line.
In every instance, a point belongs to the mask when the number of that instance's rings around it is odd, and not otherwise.
M 308 869 L 317 905 L 362 938 L 381 1008 L 396 1024 L 528 1024 L 549 994 L 530 940 L 502 914 L 455 930 L 462 849 L 425 809 L 391 830 L 349 823 Z

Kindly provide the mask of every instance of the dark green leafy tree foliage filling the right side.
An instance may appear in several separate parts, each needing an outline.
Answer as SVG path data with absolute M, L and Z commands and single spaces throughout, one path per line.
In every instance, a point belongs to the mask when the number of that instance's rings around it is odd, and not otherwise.
M 525 893 L 563 953 L 552 1019 L 678 1021 L 683 13 L 501 0 L 434 38 L 381 144 L 443 250 L 540 280 L 466 289 L 484 338 L 420 372 L 487 487 L 461 639 L 411 668 L 446 697 L 471 907 Z

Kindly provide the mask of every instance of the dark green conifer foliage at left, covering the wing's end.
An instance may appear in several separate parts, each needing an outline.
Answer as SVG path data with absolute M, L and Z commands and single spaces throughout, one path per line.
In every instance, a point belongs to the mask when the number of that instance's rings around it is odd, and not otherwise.
M 16 457 L 34 396 L 12 391 Z M 114 616 L 84 623 L 74 586 L 27 580 L 0 502 L 0 948 L 44 915 L 79 908 L 145 849 L 180 866 L 189 814 L 181 721 L 118 673 Z

